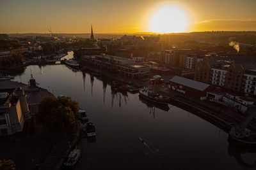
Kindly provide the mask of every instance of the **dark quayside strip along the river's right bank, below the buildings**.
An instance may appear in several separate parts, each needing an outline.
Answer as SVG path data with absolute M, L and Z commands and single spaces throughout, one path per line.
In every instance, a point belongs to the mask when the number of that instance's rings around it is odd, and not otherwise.
M 147 81 L 134 80 L 131 78 L 118 78 L 114 74 L 100 72 L 92 67 L 84 67 L 82 70 L 99 73 L 102 76 L 110 78 L 111 80 L 122 81 L 123 83 L 136 85 L 138 87 L 150 86 L 149 78 Z M 170 97 L 170 104 L 187 108 L 188 110 L 192 109 L 196 115 L 199 117 L 204 117 L 208 122 L 221 127 L 221 129 L 226 132 L 229 132 L 232 126 L 241 124 L 245 118 L 237 113 L 234 113 L 230 108 L 221 106 L 220 104 L 211 103 L 209 101 L 200 101 L 198 99 L 180 94 L 179 92 L 170 90 L 167 85 L 156 85 L 155 89 L 158 93 Z M 256 122 L 251 122 L 248 125 L 248 129 L 256 131 Z

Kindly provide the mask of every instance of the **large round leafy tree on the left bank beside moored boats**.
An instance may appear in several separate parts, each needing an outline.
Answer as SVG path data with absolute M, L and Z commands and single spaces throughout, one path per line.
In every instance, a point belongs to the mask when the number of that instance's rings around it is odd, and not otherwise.
M 36 119 L 48 129 L 65 131 L 76 125 L 79 110 L 77 101 L 70 97 L 45 97 L 39 105 Z

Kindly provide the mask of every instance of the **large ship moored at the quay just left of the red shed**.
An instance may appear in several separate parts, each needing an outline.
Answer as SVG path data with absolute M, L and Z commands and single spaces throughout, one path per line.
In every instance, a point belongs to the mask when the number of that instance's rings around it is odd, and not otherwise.
M 168 104 L 170 102 L 170 98 L 167 96 L 163 96 L 149 89 L 140 89 L 140 96 L 148 101 L 152 101 L 158 104 Z

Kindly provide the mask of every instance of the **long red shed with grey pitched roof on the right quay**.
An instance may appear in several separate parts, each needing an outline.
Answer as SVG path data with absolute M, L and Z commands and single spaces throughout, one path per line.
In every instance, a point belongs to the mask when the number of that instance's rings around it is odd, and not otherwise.
M 169 82 L 170 89 L 202 100 L 206 99 L 207 92 L 212 92 L 214 90 L 214 87 L 207 83 L 202 83 L 200 81 L 191 80 L 181 76 L 174 76 Z

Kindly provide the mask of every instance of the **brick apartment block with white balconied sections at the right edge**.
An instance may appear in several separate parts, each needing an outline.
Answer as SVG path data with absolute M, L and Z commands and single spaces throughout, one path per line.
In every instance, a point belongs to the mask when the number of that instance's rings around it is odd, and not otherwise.
M 205 59 L 196 65 L 194 80 L 255 96 L 256 64 Z

